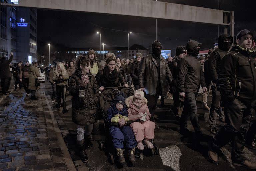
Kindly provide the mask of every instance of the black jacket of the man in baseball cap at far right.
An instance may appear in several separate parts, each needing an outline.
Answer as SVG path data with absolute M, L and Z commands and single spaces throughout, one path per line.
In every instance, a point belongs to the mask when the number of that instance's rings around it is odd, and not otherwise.
M 218 81 L 224 103 L 256 99 L 256 61 L 250 55 L 250 50 L 234 45 L 222 58 Z

